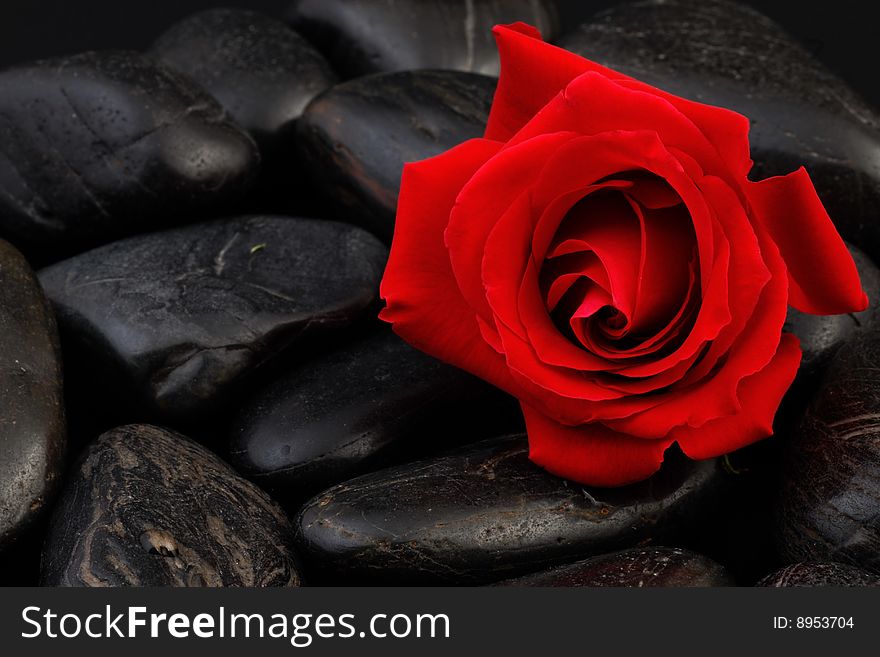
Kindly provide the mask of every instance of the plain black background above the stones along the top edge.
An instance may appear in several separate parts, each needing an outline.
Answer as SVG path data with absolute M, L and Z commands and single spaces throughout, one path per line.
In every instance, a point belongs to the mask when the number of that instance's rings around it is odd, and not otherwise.
M 241 6 L 280 16 L 287 0 L 0 0 L 0 68 L 29 59 L 99 48 L 145 48 L 166 27 L 193 11 Z M 563 28 L 573 27 L 613 0 L 559 0 Z M 880 106 L 872 0 L 752 0 L 810 51 Z

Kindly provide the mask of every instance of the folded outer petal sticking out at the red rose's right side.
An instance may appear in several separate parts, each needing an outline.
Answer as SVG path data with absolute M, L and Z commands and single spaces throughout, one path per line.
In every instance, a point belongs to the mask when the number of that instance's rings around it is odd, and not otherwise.
M 792 306 L 814 315 L 868 307 L 852 256 L 806 169 L 750 183 L 748 196 L 788 267 Z

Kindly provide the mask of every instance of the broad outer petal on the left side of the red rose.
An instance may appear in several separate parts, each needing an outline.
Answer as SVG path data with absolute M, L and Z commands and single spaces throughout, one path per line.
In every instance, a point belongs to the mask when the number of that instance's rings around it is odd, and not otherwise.
M 472 139 L 403 171 L 380 318 L 414 347 L 516 395 L 504 357 L 483 340 L 455 282 L 443 232 L 462 185 L 501 144 Z

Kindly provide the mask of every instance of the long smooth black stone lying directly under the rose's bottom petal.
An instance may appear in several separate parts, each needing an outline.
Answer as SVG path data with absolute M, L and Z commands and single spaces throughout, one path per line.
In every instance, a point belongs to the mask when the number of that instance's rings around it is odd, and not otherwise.
M 330 488 L 303 507 L 297 544 L 329 582 L 491 582 L 674 538 L 721 482 L 715 461 L 670 455 L 641 484 L 586 488 L 531 463 L 515 436 Z

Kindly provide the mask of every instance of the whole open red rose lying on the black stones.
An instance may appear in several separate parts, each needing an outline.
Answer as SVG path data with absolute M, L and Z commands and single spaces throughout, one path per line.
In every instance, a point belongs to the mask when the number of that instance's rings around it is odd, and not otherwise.
M 586 484 L 770 435 L 788 305 L 867 305 L 806 171 L 750 182 L 745 117 L 495 36 L 485 137 L 404 170 L 381 317 L 515 395 L 532 460 Z

